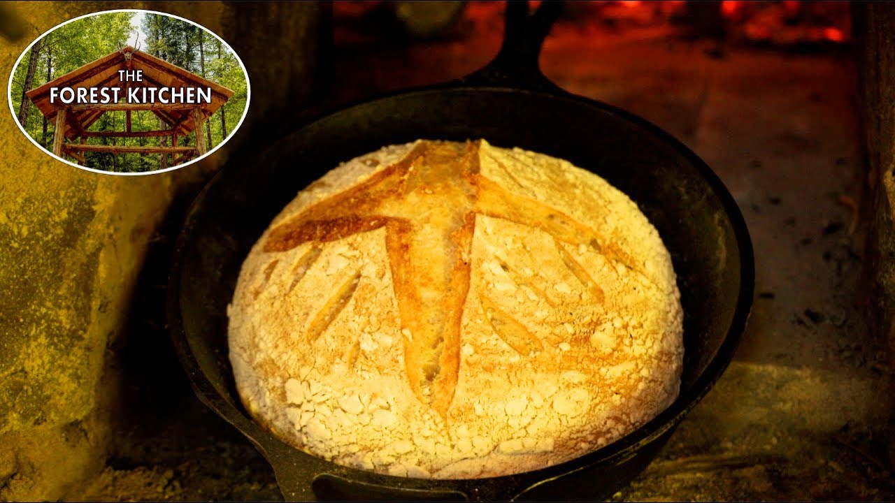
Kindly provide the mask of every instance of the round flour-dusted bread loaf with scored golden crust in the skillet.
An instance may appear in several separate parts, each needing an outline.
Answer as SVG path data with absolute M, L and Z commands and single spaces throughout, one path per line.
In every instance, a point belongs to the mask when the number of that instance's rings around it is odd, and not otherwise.
M 258 422 L 393 475 L 567 461 L 680 383 L 675 274 L 635 203 L 482 140 L 386 147 L 311 184 L 252 248 L 228 314 Z

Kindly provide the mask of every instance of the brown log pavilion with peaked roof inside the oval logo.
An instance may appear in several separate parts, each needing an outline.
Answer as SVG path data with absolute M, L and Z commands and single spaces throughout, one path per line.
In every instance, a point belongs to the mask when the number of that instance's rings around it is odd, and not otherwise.
M 132 72 L 140 70 L 141 81 L 122 81 L 120 71 Z M 169 92 L 180 92 L 188 88 L 201 88 L 210 90 L 209 103 L 163 103 L 159 100 L 153 102 L 128 103 L 125 99 L 128 92 L 134 86 L 146 88 L 166 88 Z M 111 103 L 72 103 L 64 104 L 58 96 L 51 99 L 53 88 L 71 88 L 77 92 L 79 89 L 97 88 L 123 88 L 121 98 Z M 81 91 L 83 92 L 83 91 Z M 234 91 L 188 72 L 179 66 L 170 64 L 153 55 L 134 50 L 133 47 L 124 47 L 110 55 L 81 66 L 77 70 L 68 72 L 53 81 L 30 90 L 26 96 L 38 107 L 40 113 L 48 120 L 54 121 L 55 135 L 53 137 L 53 154 L 59 158 L 73 158 L 83 166 L 85 152 L 109 152 L 138 153 L 142 155 L 160 154 L 172 156 L 170 166 L 183 164 L 192 158 L 199 157 L 208 150 L 208 142 L 205 138 L 205 121 L 213 115 L 218 108 L 223 106 L 227 99 L 232 97 Z M 55 101 L 55 102 L 54 102 Z M 148 110 L 157 115 L 164 125 L 155 131 L 132 131 L 131 113 Z M 106 112 L 124 111 L 124 131 L 88 131 L 90 126 L 97 122 L 100 116 Z M 178 140 L 183 139 L 190 132 L 196 132 L 195 145 L 179 145 Z M 88 139 L 94 137 L 117 138 L 170 138 L 168 145 L 97 145 L 88 143 Z

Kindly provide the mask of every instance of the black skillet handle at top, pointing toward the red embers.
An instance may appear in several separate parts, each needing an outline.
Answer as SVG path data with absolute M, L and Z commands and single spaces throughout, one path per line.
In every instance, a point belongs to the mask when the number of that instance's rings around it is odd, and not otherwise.
M 562 6 L 560 0 L 543 1 L 531 12 L 528 2 L 507 0 L 506 30 L 498 55 L 484 68 L 460 79 L 460 83 L 565 94 L 565 90 L 541 73 L 538 65 L 544 38 Z

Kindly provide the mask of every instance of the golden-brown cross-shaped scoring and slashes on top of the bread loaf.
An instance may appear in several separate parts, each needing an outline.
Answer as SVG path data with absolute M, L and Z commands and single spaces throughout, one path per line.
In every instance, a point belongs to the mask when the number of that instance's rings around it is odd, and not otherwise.
M 265 252 L 286 252 L 303 243 L 331 242 L 385 226 L 406 372 L 413 393 L 443 417 L 459 372 L 460 323 L 469 291 L 476 214 L 541 228 L 558 241 L 590 246 L 609 260 L 637 269 L 634 260 L 592 228 L 482 176 L 480 147 L 481 141 L 420 141 L 396 164 L 274 227 L 264 243 Z M 601 303 L 600 286 L 560 243 L 557 249 L 594 302 Z M 507 344 L 524 354 L 540 349 L 540 340 L 519 337 L 525 329 L 518 321 L 489 305 L 492 325 Z M 337 313 L 324 307 L 318 317 L 328 325 Z M 326 328 L 318 321 L 311 323 L 311 340 Z

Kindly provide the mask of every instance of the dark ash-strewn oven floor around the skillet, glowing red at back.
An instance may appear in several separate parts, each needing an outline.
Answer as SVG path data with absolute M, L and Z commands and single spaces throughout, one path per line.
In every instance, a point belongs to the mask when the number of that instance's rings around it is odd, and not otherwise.
M 353 45 L 343 32 L 349 42 L 337 45 L 327 105 L 446 81 L 487 62 L 499 47 L 499 13 L 471 8 L 481 12 L 465 29 L 480 30 L 464 41 Z M 727 47 L 713 57 L 710 48 L 665 26 L 594 30 L 566 21 L 541 57 L 565 89 L 643 115 L 694 149 L 733 193 L 754 241 L 754 310 L 735 361 L 612 499 L 893 499 L 884 436 L 891 371 L 865 325 L 859 287 L 861 158 L 847 49 Z M 153 268 L 165 277 L 164 255 L 150 255 L 147 277 Z M 162 319 L 160 301 L 143 305 L 138 319 Z M 146 354 L 176 363 L 164 332 L 134 325 L 145 337 L 131 337 L 143 342 L 123 353 L 134 360 L 133 420 L 123 421 L 106 471 L 73 497 L 279 499 L 268 465 L 182 376 L 141 367 Z

